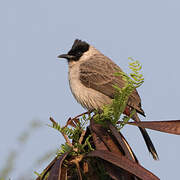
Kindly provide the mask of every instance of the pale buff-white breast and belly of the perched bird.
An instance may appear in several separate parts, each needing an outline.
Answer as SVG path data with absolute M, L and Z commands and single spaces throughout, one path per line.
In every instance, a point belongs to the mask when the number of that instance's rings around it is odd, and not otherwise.
M 76 100 L 86 109 L 100 109 L 111 103 L 111 99 L 91 88 L 84 86 L 79 80 L 80 63 L 69 65 L 69 85 Z

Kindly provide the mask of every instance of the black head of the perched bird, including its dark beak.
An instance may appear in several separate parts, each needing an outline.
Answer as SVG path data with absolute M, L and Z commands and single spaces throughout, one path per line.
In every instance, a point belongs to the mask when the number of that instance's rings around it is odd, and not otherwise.
M 59 58 L 66 58 L 67 60 L 78 61 L 80 57 L 89 50 L 89 44 L 85 41 L 76 39 L 73 43 L 72 48 L 67 54 L 62 54 L 58 56 Z

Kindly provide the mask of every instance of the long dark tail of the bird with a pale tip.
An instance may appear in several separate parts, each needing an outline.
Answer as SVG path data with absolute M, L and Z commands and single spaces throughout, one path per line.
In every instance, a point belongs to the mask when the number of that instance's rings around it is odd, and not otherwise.
M 134 115 L 133 120 L 136 121 L 136 122 L 140 121 L 137 113 Z M 147 146 L 149 152 L 152 154 L 153 159 L 158 160 L 159 159 L 158 154 L 156 152 L 156 149 L 155 149 L 155 147 L 154 147 L 154 145 L 153 145 L 153 143 L 152 143 L 146 129 L 139 127 L 139 130 L 141 131 L 141 134 L 142 134 L 142 136 L 143 136 L 143 138 L 145 140 L 146 146 Z

